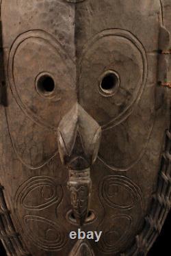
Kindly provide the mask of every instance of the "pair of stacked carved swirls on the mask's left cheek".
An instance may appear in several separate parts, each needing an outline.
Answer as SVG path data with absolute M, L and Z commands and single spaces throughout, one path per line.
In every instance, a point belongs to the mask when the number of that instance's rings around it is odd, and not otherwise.
M 16 192 L 16 217 L 23 227 L 25 238 L 45 251 L 60 251 L 66 244 L 66 231 L 57 222 L 55 210 L 62 197 L 62 186 L 45 176 L 25 181 Z M 47 212 L 51 213 L 48 219 Z

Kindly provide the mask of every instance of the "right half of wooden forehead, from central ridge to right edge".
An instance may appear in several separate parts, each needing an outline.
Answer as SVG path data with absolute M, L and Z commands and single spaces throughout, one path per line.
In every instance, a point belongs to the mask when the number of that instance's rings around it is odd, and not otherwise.
M 122 17 L 121 17 L 122 15 Z M 105 29 L 124 29 L 136 35 L 147 52 L 158 48 L 160 1 L 85 1 L 76 5 L 76 38 L 81 47 Z M 149 36 L 146 36 L 148 31 Z M 153 38 L 153 41 L 150 40 Z

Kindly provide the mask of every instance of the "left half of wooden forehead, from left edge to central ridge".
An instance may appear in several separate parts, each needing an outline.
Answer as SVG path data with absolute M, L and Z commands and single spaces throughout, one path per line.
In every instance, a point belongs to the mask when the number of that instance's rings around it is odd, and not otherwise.
M 59 10 L 57 13 L 56 10 Z M 14 22 L 9 21 L 9 15 Z M 67 18 L 66 18 L 67 17 Z M 3 43 L 10 47 L 14 38 L 25 31 L 40 29 L 49 32 L 58 40 L 66 53 L 75 57 L 75 5 L 66 1 L 2 1 L 1 18 L 3 20 Z M 10 36 L 8 35 L 10 31 Z

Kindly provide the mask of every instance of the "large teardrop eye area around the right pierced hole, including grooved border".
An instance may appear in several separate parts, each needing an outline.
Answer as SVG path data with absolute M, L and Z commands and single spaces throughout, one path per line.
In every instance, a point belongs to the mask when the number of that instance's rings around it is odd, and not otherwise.
M 146 53 L 128 31 L 108 29 L 83 49 L 80 101 L 105 129 L 118 125 L 140 100 L 146 81 Z

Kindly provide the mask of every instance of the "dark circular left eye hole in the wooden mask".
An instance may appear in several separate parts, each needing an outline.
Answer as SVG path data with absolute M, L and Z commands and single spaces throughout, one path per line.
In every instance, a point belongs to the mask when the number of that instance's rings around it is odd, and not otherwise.
M 55 90 L 55 81 L 51 75 L 40 74 L 36 79 L 36 90 L 42 96 L 50 96 Z

